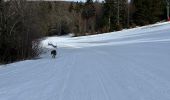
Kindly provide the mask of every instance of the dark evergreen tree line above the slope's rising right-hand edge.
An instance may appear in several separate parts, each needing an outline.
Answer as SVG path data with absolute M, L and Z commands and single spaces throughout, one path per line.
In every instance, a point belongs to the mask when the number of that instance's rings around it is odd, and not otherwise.
M 166 0 L 104 0 L 71 3 L 71 32 L 89 35 L 153 24 L 166 19 Z

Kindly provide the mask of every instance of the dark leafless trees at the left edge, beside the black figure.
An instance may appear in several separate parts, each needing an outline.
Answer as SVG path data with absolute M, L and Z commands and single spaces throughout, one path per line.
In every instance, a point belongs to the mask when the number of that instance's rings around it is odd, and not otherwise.
M 37 56 L 36 39 L 40 34 L 34 19 L 35 6 L 26 0 L 1 1 L 0 5 L 0 61 L 13 62 Z

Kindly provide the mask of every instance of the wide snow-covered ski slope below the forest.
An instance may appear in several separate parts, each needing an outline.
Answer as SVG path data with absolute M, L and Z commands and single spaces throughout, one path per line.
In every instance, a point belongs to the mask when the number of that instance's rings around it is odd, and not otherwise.
M 170 23 L 49 37 L 49 52 L 0 68 L 0 100 L 170 100 Z

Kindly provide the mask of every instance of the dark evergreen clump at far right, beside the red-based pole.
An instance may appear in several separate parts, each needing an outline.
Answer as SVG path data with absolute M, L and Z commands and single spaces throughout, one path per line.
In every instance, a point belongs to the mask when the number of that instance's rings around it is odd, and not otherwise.
M 164 0 L 133 0 L 132 3 L 135 7 L 133 19 L 137 25 L 152 24 L 160 21 L 161 16 L 164 14 Z

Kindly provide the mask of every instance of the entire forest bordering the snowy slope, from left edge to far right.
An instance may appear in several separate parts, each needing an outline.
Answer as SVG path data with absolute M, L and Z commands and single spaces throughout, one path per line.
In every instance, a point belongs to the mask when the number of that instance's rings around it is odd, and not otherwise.
M 101 34 L 166 19 L 166 0 L 0 0 L 0 62 L 39 54 L 39 38 Z

